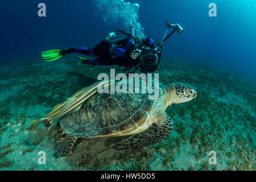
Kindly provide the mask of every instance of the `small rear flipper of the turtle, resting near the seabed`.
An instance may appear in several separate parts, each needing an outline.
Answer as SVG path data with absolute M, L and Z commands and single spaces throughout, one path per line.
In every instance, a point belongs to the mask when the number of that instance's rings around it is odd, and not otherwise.
M 76 140 L 77 137 L 67 135 L 63 132 L 60 139 L 57 140 L 55 144 L 53 156 L 57 159 L 66 155 L 70 155 L 72 153 L 72 149 L 74 144 L 76 143 Z

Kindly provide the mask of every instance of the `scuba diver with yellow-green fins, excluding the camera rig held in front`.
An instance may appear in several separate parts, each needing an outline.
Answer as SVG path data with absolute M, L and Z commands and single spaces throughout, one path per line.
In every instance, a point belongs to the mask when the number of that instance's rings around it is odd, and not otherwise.
M 125 67 L 125 71 L 130 70 L 133 67 L 136 67 L 139 64 L 138 53 L 139 50 L 146 48 L 153 48 L 154 40 L 151 38 L 146 38 L 142 40 L 142 45 L 139 46 L 139 49 L 135 48 L 133 45 L 133 40 L 129 37 L 119 40 L 115 43 L 110 43 L 106 40 L 103 40 L 100 44 L 97 44 L 94 48 L 67 48 L 62 50 L 44 52 L 44 60 L 55 59 L 53 56 L 57 53 L 57 56 L 65 56 L 69 53 L 80 53 L 90 57 L 97 57 L 96 59 L 89 59 L 79 57 L 82 65 L 118 65 L 119 67 Z M 52 57 L 48 57 L 49 54 Z M 57 57 L 56 57 L 57 58 Z M 141 67 L 142 73 L 155 72 L 157 66 L 154 67 Z

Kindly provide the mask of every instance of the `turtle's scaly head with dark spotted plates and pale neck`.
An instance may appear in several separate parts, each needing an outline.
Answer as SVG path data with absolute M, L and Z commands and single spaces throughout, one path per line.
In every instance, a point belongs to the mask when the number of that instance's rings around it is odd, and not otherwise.
M 188 84 L 174 82 L 167 86 L 167 106 L 191 101 L 196 98 L 196 89 Z

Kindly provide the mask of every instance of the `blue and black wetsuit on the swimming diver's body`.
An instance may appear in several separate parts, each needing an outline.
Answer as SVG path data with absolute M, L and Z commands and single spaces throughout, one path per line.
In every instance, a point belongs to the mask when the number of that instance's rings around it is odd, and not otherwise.
M 125 39 L 115 44 L 107 41 L 102 41 L 94 48 L 78 47 L 74 52 L 81 53 L 87 56 L 98 57 L 89 60 L 90 65 L 119 65 L 130 69 L 139 64 L 138 59 L 130 58 L 130 53 L 133 51 L 133 40 Z M 141 67 L 141 72 L 146 71 Z

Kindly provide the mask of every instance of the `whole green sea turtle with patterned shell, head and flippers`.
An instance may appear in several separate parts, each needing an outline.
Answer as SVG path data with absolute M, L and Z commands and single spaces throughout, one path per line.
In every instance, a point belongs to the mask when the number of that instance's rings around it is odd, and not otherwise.
M 165 110 L 171 104 L 191 101 L 196 97 L 196 90 L 191 85 L 177 82 L 158 85 L 159 96 L 155 99 L 150 98 L 152 90 L 146 93 L 95 93 L 77 113 L 60 119 L 63 134 L 55 144 L 55 158 L 70 155 L 77 138 L 126 136 L 110 146 L 115 150 L 149 146 L 165 139 L 172 130 L 172 121 Z M 137 89 L 142 90 L 142 86 L 139 84 Z M 127 91 L 131 91 L 130 86 Z

